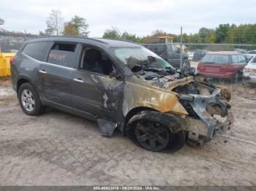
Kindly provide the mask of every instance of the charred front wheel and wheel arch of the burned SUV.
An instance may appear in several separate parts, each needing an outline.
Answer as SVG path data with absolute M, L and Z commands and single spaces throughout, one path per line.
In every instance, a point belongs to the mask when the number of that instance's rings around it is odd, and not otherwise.
M 127 135 L 140 147 L 151 152 L 167 149 L 177 151 L 184 146 L 185 136 L 182 130 L 172 133 L 171 129 L 181 128 L 178 122 L 170 116 L 159 112 L 145 111 L 136 114 L 129 120 Z

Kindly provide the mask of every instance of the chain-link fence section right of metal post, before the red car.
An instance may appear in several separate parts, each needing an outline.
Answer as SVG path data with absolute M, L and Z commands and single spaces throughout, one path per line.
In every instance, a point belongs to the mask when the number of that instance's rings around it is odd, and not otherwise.
M 189 62 L 214 85 L 256 95 L 256 44 L 185 44 Z

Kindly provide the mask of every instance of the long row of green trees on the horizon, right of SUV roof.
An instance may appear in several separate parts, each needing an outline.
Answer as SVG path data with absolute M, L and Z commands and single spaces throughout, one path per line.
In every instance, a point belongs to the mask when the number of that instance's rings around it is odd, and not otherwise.
M 170 34 L 165 31 L 156 30 L 148 36 L 136 36 L 135 34 L 119 34 L 114 28 L 106 30 L 103 38 L 127 39 L 133 42 L 149 43 L 157 42 L 158 36 L 171 36 L 173 42 L 180 42 L 180 35 Z M 256 44 L 256 24 L 220 24 L 217 28 L 200 28 L 195 34 L 183 34 L 184 43 L 228 43 L 228 44 Z

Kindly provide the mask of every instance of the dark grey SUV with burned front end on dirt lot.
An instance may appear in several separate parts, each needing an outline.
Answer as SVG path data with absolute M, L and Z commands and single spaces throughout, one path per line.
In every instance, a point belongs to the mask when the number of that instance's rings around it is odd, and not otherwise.
M 31 39 L 11 60 L 23 112 L 61 109 L 115 129 L 144 149 L 203 144 L 230 128 L 230 93 L 132 42 L 52 36 Z M 216 116 L 221 116 L 217 117 Z

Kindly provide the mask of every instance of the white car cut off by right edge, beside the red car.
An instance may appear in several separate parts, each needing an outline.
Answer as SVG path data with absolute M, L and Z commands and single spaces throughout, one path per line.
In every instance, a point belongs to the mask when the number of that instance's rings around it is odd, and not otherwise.
M 248 82 L 256 83 L 256 55 L 253 56 L 251 61 L 244 67 L 243 76 Z

